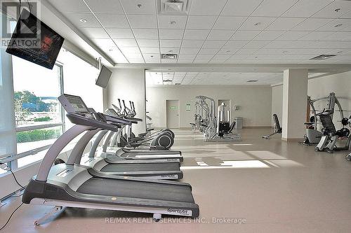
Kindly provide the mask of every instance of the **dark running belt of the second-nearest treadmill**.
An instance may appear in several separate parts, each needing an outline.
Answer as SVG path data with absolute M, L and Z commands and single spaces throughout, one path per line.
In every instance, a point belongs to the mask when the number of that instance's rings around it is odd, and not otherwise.
M 180 171 L 178 163 L 154 163 L 154 164 L 107 164 L 100 171 L 124 172 L 124 171 Z

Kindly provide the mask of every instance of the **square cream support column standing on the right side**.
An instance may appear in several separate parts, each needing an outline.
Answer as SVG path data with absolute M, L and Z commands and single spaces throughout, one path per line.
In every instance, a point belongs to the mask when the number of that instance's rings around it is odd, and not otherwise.
M 303 139 L 307 108 L 307 69 L 284 71 L 282 140 Z

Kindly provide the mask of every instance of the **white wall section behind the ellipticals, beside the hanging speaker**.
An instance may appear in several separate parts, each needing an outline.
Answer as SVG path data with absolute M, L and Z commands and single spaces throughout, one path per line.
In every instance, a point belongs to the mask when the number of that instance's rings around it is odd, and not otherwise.
M 129 108 L 129 101 L 134 101 L 135 118 L 143 119 L 133 125 L 134 133 L 145 132 L 145 69 L 111 69 L 112 76 L 107 85 L 104 97 L 107 107 L 118 106 L 117 99 L 124 99 Z

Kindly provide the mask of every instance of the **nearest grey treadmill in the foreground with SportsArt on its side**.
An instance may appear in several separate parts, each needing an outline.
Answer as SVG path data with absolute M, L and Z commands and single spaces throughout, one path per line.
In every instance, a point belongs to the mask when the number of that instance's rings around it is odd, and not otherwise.
M 54 206 L 34 225 L 45 223 L 65 207 L 152 213 L 155 221 L 159 221 L 163 214 L 190 218 L 199 216 L 199 206 L 194 202 L 192 187 L 188 183 L 111 176 L 81 164 L 52 166 L 61 150 L 79 134 L 96 129 L 113 132 L 119 129 L 104 122 L 98 115 L 88 113 L 80 97 L 69 98 L 72 98 L 76 111 L 67 113 L 67 118 L 75 125 L 49 148 L 37 176 L 29 181 L 22 196 L 25 204 Z

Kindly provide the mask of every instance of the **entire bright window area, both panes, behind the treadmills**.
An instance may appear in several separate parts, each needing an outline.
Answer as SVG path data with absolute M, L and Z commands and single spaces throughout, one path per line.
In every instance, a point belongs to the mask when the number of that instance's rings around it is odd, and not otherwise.
M 52 143 L 72 127 L 57 99 L 60 94 L 79 95 L 95 111 L 103 111 L 103 101 L 102 88 L 95 85 L 98 69 L 65 49 L 53 70 L 14 56 L 12 62 L 18 154 L 14 168 L 41 160 Z

